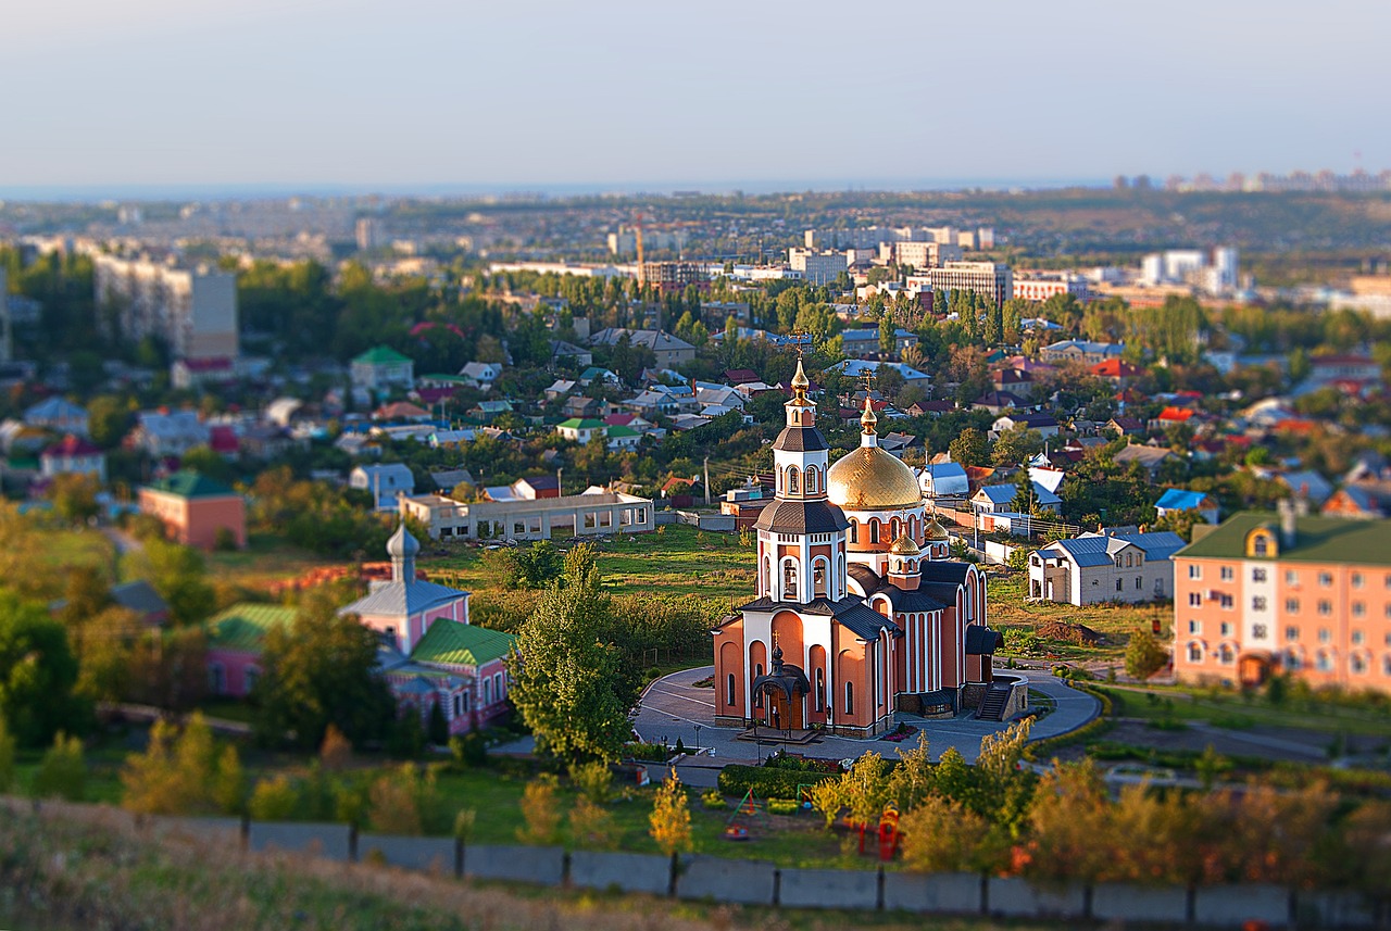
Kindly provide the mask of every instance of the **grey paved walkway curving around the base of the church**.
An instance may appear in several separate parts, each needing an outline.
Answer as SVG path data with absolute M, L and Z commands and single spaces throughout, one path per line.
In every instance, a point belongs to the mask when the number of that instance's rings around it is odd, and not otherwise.
M 751 743 L 736 741 L 734 728 L 715 727 L 715 692 L 711 688 L 696 688 L 693 684 L 711 677 L 714 666 L 701 666 L 693 670 L 682 670 L 655 679 L 643 692 L 638 706 L 637 720 L 633 727 L 644 741 L 670 745 L 680 738 L 686 746 L 701 746 L 707 749 L 696 757 L 689 757 L 680 767 L 682 778 L 690 785 L 714 785 L 714 775 L 726 763 L 758 763 L 772 753 L 778 743 Z M 1029 681 L 1029 688 L 1047 695 L 1054 702 L 1054 710 L 1034 724 L 1032 739 L 1043 739 L 1068 734 L 1093 720 L 1102 713 L 1102 703 L 1086 692 L 1078 692 L 1056 675 L 1040 670 L 1010 670 L 1014 675 L 1024 675 Z M 912 716 L 900 716 L 918 727 L 928 738 L 933 757 L 954 746 L 967 761 L 974 763 L 981 755 L 981 739 L 988 734 L 999 734 L 1007 724 L 996 721 L 978 721 L 961 714 L 949 720 L 924 720 Z M 697 741 L 697 727 L 700 738 Z M 807 752 L 812 756 L 850 759 L 865 750 L 878 750 L 885 756 L 892 756 L 900 746 L 892 741 L 881 739 L 851 739 L 844 736 L 828 736 L 819 743 L 808 748 L 794 748 L 794 752 Z M 691 770 L 709 770 L 702 777 Z M 687 778 L 687 773 L 690 775 Z

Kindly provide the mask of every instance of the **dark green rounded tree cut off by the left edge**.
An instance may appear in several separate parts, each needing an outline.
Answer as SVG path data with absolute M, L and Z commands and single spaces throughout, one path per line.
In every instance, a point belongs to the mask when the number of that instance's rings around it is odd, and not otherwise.
M 58 730 L 86 730 L 90 707 L 75 695 L 77 681 L 63 624 L 0 592 L 0 717 L 21 746 L 43 746 Z

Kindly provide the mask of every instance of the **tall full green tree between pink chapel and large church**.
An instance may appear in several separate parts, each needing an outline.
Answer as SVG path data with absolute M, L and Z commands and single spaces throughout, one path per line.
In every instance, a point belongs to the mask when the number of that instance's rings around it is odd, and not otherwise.
M 542 756 L 581 761 L 618 759 L 632 734 L 632 693 L 615 648 L 604 641 L 609 602 L 600 589 L 591 546 L 566 554 L 522 625 L 508 659 L 512 702 Z

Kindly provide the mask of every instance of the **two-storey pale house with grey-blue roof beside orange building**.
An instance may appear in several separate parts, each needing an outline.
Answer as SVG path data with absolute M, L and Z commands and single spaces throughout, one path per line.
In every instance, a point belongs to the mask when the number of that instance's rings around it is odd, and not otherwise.
M 1068 604 L 1150 602 L 1174 595 L 1178 534 L 1103 531 L 1054 541 L 1029 554 L 1029 598 Z

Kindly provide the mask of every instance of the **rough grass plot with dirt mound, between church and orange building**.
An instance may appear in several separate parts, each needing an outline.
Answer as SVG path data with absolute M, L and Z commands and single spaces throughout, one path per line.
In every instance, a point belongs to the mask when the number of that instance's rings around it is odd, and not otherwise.
M 1164 624 L 1173 618 L 1173 609 L 1167 604 L 1088 604 L 1077 607 L 1057 602 L 1027 602 L 1027 581 L 1022 572 L 990 575 L 990 627 L 1006 634 L 1004 656 L 1014 654 L 1010 645 L 1011 631 L 1036 632 L 1039 625 L 1046 621 L 1061 621 L 1086 625 L 1106 639 L 1097 646 L 1079 646 L 1067 641 L 1042 638 L 1039 650 L 1034 653 L 1035 657 L 1067 663 L 1116 663 L 1120 666 L 1129 635 L 1136 628 L 1149 629 L 1155 617 L 1159 617 Z

